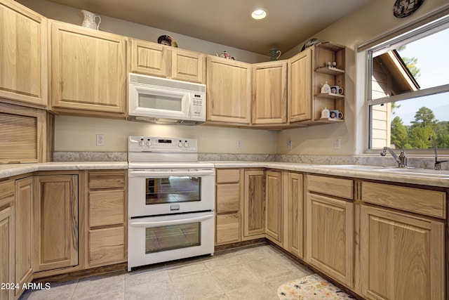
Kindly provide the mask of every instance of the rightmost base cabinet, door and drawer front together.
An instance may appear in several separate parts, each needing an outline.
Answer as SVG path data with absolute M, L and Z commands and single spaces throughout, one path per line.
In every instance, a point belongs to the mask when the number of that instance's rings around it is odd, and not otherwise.
M 363 182 L 361 200 L 362 295 L 376 300 L 447 299 L 446 193 Z

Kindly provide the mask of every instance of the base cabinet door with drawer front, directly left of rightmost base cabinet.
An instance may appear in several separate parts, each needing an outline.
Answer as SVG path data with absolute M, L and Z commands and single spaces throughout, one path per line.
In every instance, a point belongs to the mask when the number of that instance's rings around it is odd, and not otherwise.
M 353 181 L 309 174 L 306 178 L 305 260 L 343 285 L 352 287 Z

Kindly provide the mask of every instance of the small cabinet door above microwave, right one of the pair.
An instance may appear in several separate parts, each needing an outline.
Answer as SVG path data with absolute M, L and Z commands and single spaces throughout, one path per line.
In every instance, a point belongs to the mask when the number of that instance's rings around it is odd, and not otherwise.
M 172 50 L 171 77 L 177 80 L 206 81 L 206 56 L 201 53 L 174 48 Z

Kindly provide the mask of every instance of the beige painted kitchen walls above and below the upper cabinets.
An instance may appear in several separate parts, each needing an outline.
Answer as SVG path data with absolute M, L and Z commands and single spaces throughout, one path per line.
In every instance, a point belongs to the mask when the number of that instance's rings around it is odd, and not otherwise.
M 60 6 L 44 0 L 19 0 L 19 2 L 45 15 L 47 18 L 74 24 L 81 24 L 83 19 L 79 10 L 67 6 Z M 274 131 L 227 129 L 208 126 L 188 127 L 187 129 L 182 128 L 182 126 L 166 128 L 166 126 L 159 127 L 106 119 L 57 117 L 55 122 L 55 150 L 122 151 L 126 147 L 126 144 L 123 143 L 123 137 L 128 134 L 157 133 L 156 135 L 161 135 L 159 133 L 170 133 L 173 136 L 188 134 L 186 137 L 199 138 L 200 152 L 278 153 L 292 155 L 354 155 L 363 153 L 366 149 L 367 132 L 366 106 L 364 103 L 366 77 L 364 65 L 366 59 L 363 55 L 356 53 L 357 46 L 394 32 L 398 28 L 413 24 L 413 22 L 444 8 L 449 8 L 447 0 L 426 0 L 422 7 L 413 15 L 408 18 L 398 19 L 392 13 L 393 4 L 393 0 L 373 0 L 358 11 L 335 22 L 313 36 L 321 41 L 334 41 L 348 47 L 345 122 L 342 124 L 310 126 L 276 133 Z M 178 41 L 181 48 L 211 55 L 215 52 L 227 50 L 238 60 L 248 63 L 267 61 L 267 57 L 248 51 L 213 44 L 208 41 L 201 41 L 114 18 L 103 17 L 100 28 L 107 32 L 149 41 L 156 41 L 161 34 L 169 34 Z M 283 57 L 288 58 L 300 52 L 304 42 L 284 53 Z M 95 129 L 95 132 L 92 129 Z M 94 133 L 97 132 L 97 129 L 101 129 L 107 138 L 107 145 L 101 149 L 98 149 L 94 144 Z M 340 150 L 334 149 L 335 138 L 340 138 Z M 237 139 L 243 141 L 243 149 L 239 151 L 235 148 Z M 287 146 L 287 142 L 290 140 L 293 141 L 292 150 L 289 150 Z M 270 145 L 273 141 L 274 145 Z

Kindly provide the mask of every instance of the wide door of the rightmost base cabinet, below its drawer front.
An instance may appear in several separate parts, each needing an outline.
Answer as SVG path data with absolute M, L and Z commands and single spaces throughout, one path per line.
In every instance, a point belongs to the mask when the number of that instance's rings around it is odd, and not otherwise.
M 360 237 L 366 299 L 447 299 L 443 222 L 362 205 Z

